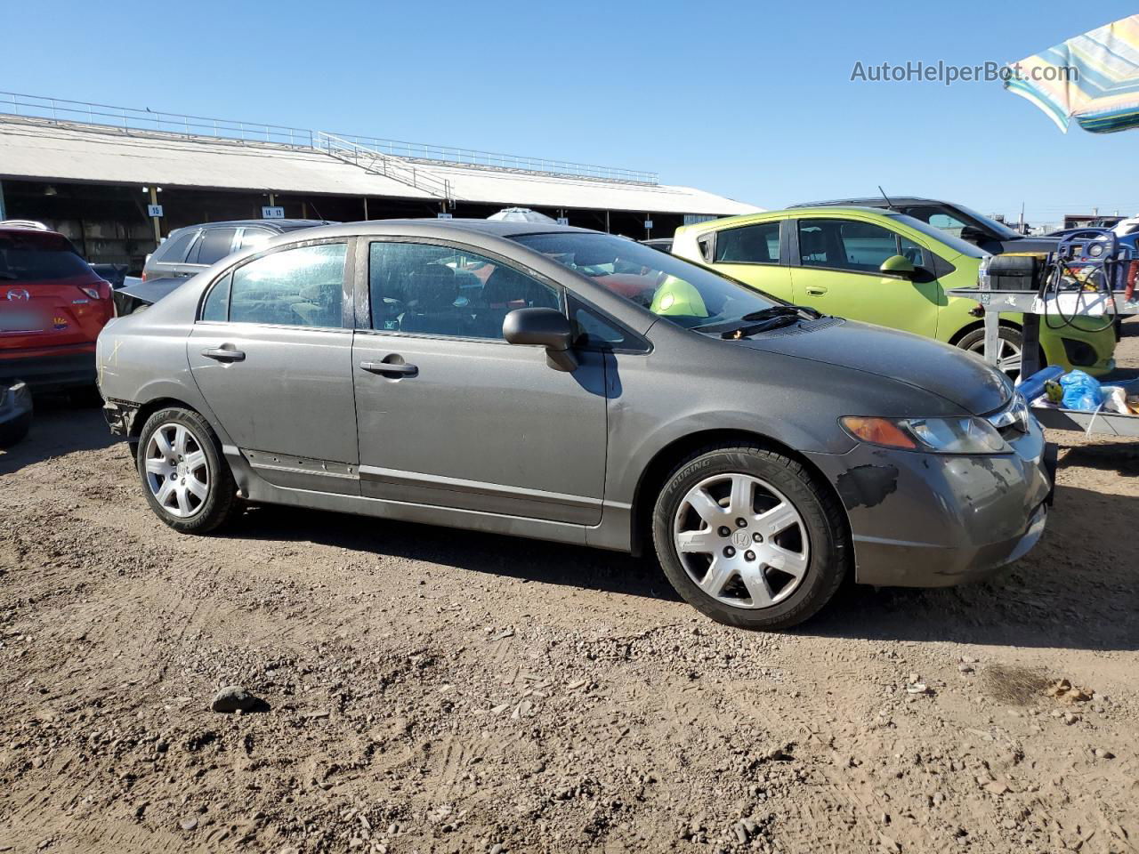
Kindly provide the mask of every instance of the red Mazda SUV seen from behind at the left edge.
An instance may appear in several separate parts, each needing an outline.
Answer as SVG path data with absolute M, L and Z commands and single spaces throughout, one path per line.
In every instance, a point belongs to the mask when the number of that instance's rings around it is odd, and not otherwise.
M 63 235 L 0 222 L 0 380 L 95 389 L 95 339 L 114 317 L 110 285 Z

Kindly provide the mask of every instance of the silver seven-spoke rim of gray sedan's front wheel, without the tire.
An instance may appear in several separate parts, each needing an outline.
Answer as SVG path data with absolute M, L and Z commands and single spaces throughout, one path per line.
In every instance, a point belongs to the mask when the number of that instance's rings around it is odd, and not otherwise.
M 680 563 L 700 590 L 734 608 L 769 608 L 806 577 L 810 543 L 795 506 L 765 481 L 710 477 L 685 495 L 673 520 Z

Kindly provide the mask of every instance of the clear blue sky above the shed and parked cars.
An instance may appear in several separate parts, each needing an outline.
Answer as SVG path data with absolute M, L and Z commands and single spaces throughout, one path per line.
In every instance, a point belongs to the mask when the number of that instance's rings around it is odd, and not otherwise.
M 1139 132 L 1066 136 L 1009 61 L 1136 11 L 1042 2 L 5 3 L 0 88 L 659 172 L 764 207 L 875 192 L 1139 213 Z M 14 38 L 18 34 L 18 38 Z

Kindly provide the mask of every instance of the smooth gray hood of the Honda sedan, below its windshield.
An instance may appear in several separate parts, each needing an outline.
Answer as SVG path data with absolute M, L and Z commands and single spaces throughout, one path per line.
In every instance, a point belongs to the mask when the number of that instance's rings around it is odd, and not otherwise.
M 1003 407 L 1009 379 L 977 356 L 895 329 L 843 320 L 798 327 L 803 334 L 761 334 L 740 344 L 769 353 L 835 364 L 932 392 L 973 414 Z M 810 330 L 810 331 L 808 331 Z

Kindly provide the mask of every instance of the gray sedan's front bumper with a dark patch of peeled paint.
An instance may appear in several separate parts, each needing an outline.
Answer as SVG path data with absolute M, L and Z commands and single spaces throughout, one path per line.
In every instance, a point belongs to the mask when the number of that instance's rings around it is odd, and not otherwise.
M 860 444 L 808 454 L 838 491 L 861 584 L 940 588 L 1024 557 L 1044 529 L 1055 453 L 1035 419 L 1014 452 L 949 455 Z

